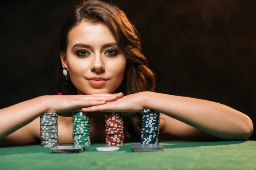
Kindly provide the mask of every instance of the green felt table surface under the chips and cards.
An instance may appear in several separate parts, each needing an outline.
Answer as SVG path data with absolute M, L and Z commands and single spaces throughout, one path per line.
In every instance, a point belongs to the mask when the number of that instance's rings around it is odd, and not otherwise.
M 135 153 L 131 144 L 116 152 L 51 153 L 40 145 L 0 148 L 0 170 L 256 170 L 256 141 L 160 142 L 164 151 Z M 137 143 L 138 144 L 138 143 Z

